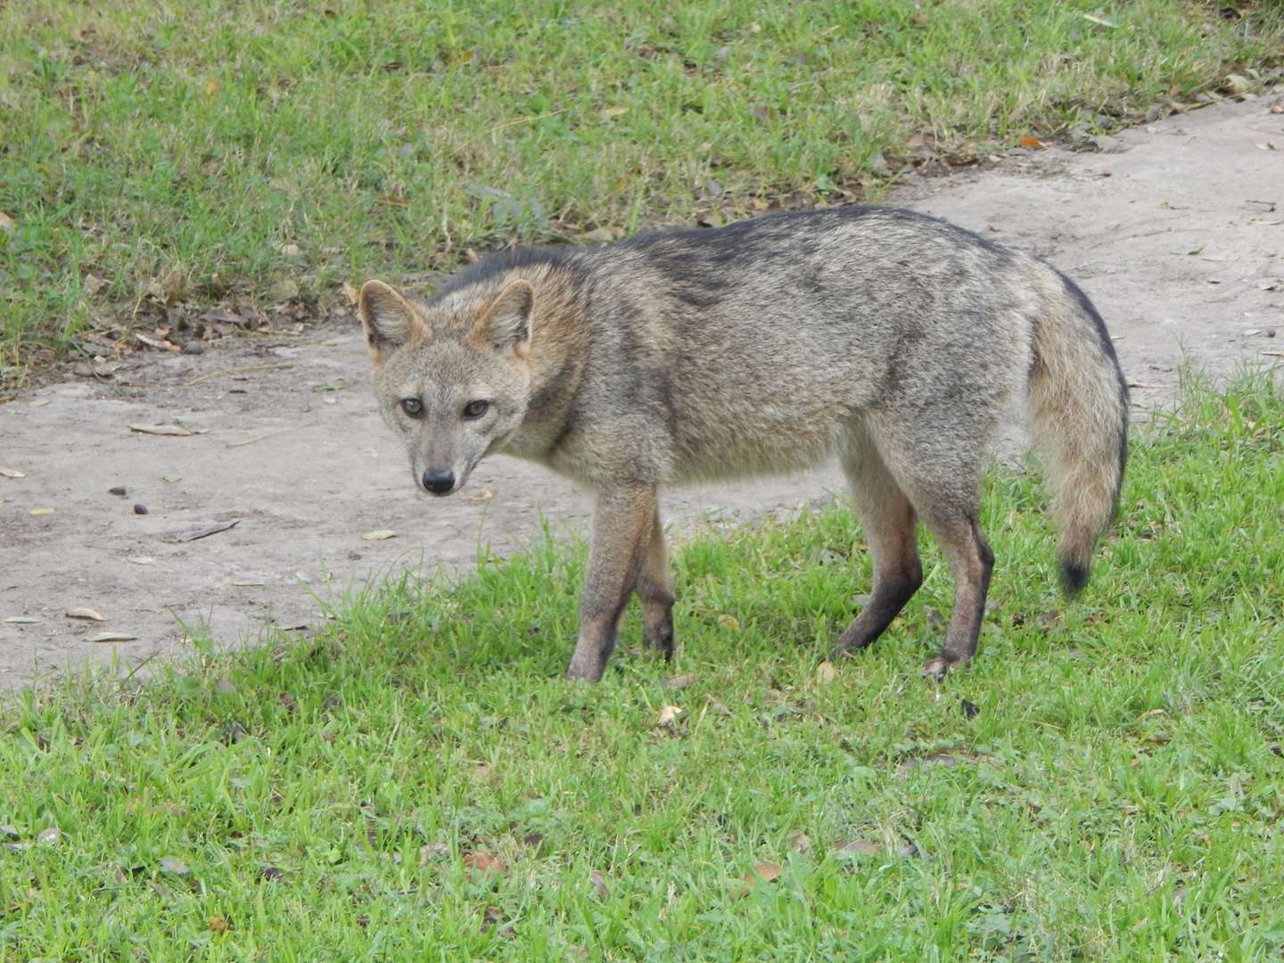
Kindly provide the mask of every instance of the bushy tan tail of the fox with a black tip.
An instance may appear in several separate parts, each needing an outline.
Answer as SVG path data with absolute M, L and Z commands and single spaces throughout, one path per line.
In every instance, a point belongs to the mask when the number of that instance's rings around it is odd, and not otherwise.
M 1118 503 L 1127 460 L 1127 383 L 1106 325 L 1079 286 L 1035 322 L 1030 412 L 1053 510 L 1061 519 L 1061 579 L 1071 596 L 1088 584 L 1093 548 Z

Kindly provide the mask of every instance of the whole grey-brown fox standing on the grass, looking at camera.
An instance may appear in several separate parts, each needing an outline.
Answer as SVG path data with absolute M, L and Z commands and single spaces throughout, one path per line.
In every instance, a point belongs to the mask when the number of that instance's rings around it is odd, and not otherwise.
M 632 592 L 672 652 L 661 485 L 837 457 L 874 560 L 838 651 L 869 645 L 922 582 L 914 528 L 955 578 L 942 677 L 976 650 L 993 555 L 987 444 L 1025 399 L 1061 516 L 1064 584 L 1088 579 L 1124 473 L 1127 394 L 1084 293 L 1028 254 L 908 211 L 841 207 L 601 248 L 525 249 L 426 303 L 377 281 L 361 316 L 385 419 L 428 490 L 492 452 L 597 496 L 570 675 L 600 678 Z

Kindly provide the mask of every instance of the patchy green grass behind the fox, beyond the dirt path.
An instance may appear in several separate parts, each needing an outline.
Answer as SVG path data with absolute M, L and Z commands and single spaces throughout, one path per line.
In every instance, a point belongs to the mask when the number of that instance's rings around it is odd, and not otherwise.
M 0 4 L 0 386 L 212 303 L 1108 131 L 1274 69 L 1284 9 L 1235 6 Z

